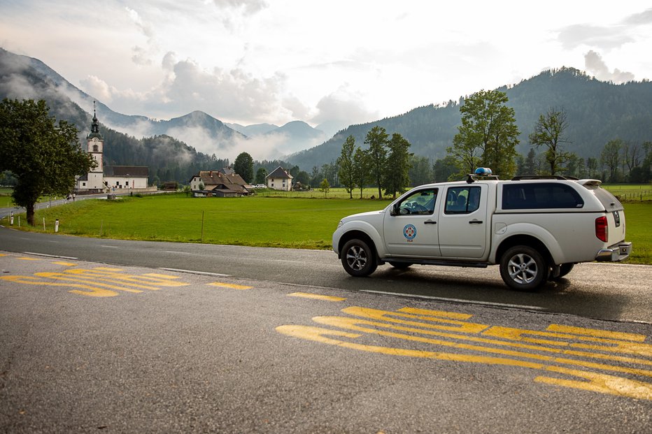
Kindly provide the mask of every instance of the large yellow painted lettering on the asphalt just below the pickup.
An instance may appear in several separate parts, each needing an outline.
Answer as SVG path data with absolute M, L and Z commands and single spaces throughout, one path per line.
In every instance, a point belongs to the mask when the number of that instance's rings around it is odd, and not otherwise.
M 652 400 L 652 382 L 648 380 L 652 370 L 646 369 L 652 366 L 652 345 L 644 342 L 646 335 L 560 324 L 551 324 L 545 331 L 524 330 L 466 322 L 470 314 L 413 308 L 390 312 L 354 306 L 341 312 L 353 317 L 313 318 L 335 330 L 302 325 L 278 326 L 276 330 L 366 352 L 544 370 L 555 376 L 539 375 L 535 382 Z M 448 348 L 460 354 L 348 341 L 365 335 Z

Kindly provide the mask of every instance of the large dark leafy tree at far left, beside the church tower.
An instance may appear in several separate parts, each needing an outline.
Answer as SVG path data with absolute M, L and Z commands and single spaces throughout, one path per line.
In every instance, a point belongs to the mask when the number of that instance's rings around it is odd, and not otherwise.
M 95 166 L 83 151 L 77 129 L 50 117 L 45 101 L 4 99 L 0 103 L 0 172 L 17 178 L 13 199 L 27 210 L 34 226 L 34 205 L 43 194 L 65 195 L 75 186 L 75 176 Z

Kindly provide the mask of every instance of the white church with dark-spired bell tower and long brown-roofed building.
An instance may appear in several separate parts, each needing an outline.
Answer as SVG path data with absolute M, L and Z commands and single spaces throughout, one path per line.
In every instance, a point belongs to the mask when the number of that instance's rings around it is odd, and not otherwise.
M 149 169 L 147 166 L 104 166 L 104 138 L 99 133 L 97 111 L 93 109 L 93 123 L 86 136 L 88 153 L 97 166 L 86 175 L 77 178 L 78 194 L 125 193 L 147 189 Z

